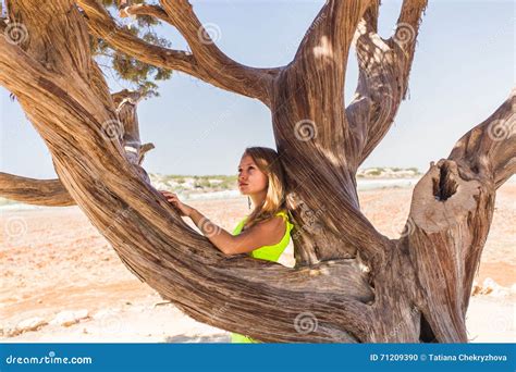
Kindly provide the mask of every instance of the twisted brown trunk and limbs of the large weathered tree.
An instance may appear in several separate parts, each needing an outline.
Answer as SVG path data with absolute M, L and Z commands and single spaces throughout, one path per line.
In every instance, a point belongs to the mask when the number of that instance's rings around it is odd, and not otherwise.
M 406 96 L 426 5 L 405 0 L 385 40 L 377 34 L 378 1 L 329 0 L 288 65 L 254 69 L 220 51 L 184 0 L 123 12 L 176 27 L 192 53 L 124 32 L 96 0 L 8 1 L 2 29 L 17 26 L 26 37 L 0 36 L 0 84 L 17 97 L 59 176 L 50 186 L 26 182 L 41 200 L 76 202 L 135 275 L 200 322 L 263 342 L 467 342 L 465 313 L 495 190 L 516 168 L 514 91 L 431 164 L 398 239 L 372 226 L 356 190 L 357 168 Z M 225 257 L 150 186 L 135 157 L 139 136 L 113 131 L 134 113 L 116 110 L 88 33 L 271 109 L 295 219 L 295 268 Z M 360 73 L 346 107 L 354 38 Z M 13 197 L 17 178 L 4 177 L 2 193 Z

